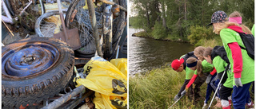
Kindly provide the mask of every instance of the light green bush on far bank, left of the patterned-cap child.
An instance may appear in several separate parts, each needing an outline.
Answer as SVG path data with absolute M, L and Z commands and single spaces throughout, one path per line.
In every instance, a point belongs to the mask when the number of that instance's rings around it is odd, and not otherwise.
M 212 28 L 206 29 L 205 26 L 192 25 L 190 26 L 190 36 L 188 37 L 190 44 L 200 46 L 205 43 L 206 40 L 212 40 L 214 37 L 218 37 L 213 33 Z

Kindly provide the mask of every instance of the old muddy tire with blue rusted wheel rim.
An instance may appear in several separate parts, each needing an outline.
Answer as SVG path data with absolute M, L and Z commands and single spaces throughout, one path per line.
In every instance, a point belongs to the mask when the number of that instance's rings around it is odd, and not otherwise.
M 74 51 L 63 41 L 36 37 L 2 47 L 2 106 L 30 106 L 58 94 L 71 79 Z

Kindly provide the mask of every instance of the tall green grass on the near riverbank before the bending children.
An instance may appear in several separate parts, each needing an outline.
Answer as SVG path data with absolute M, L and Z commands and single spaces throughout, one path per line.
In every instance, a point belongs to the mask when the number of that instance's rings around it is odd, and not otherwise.
M 129 107 L 135 109 L 150 108 L 163 109 L 170 107 L 174 96 L 185 80 L 185 71 L 175 72 L 170 67 L 157 68 L 146 75 L 138 74 L 129 80 Z M 202 108 L 204 95 L 206 95 L 206 84 L 201 87 L 202 98 L 193 105 L 190 99 L 183 97 L 174 108 Z

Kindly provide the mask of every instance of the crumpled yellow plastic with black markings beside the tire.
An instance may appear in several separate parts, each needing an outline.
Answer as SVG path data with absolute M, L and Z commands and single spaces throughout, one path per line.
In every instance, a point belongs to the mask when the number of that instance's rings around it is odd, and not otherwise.
M 74 81 L 95 91 L 94 103 L 98 109 L 127 107 L 127 59 L 109 61 L 90 60 L 84 66 L 86 79 Z

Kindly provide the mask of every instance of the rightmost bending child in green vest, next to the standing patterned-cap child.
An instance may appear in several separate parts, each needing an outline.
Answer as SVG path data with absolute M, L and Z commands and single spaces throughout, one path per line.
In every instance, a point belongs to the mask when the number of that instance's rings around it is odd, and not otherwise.
M 220 48 L 220 46 L 218 47 Z M 217 51 L 217 52 L 220 52 L 220 51 Z M 214 68 L 216 69 L 218 75 L 221 75 L 226 69 L 226 67 L 228 66 L 228 64 L 225 60 L 222 59 L 221 56 L 218 56 L 217 54 L 223 54 L 223 53 L 215 53 L 215 51 L 213 51 L 213 48 L 208 47 L 203 53 L 203 56 L 208 63 L 214 64 Z M 229 70 L 227 70 L 224 75 L 226 75 L 227 77 L 223 77 L 220 85 L 221 86 L 220 91 L 219 91 L 223 108 L 229 107 L 231 105 L 231 94 L 233 90 L 233 80 L 234 80 L 234 77 L 233 77 L 234 74 L 231 73 Z M 218 78 L 221 78 L 221 76 L 218 76 Z

